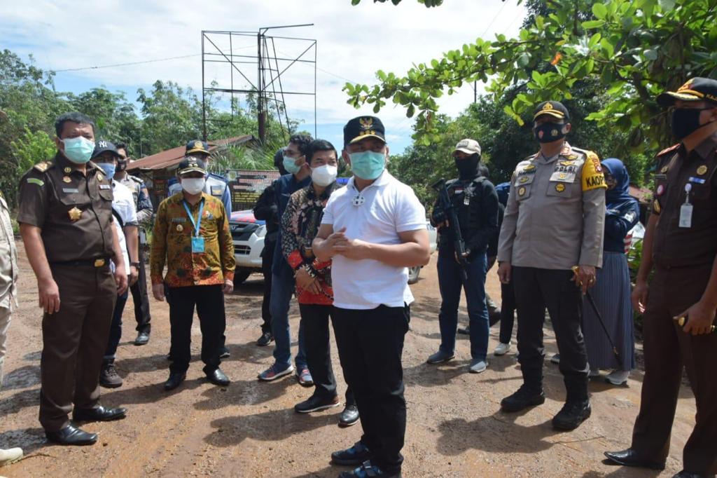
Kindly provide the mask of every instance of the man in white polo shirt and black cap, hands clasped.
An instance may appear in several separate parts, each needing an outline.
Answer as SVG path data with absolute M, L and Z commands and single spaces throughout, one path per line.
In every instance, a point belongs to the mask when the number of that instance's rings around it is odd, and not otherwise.
M 329 198 L 313 253 L 333 260 L 334 334 L 364 435 L 331 460 L 361 465 L 341 477 L 400 477 L 406 432 L 401 355 L 413 301 L 407 268 L 429 261 L 426 211 L 413 190 L 385 170 L 389 147 L 379 118 L 353 118 L 343 143 L 353 177 Z

